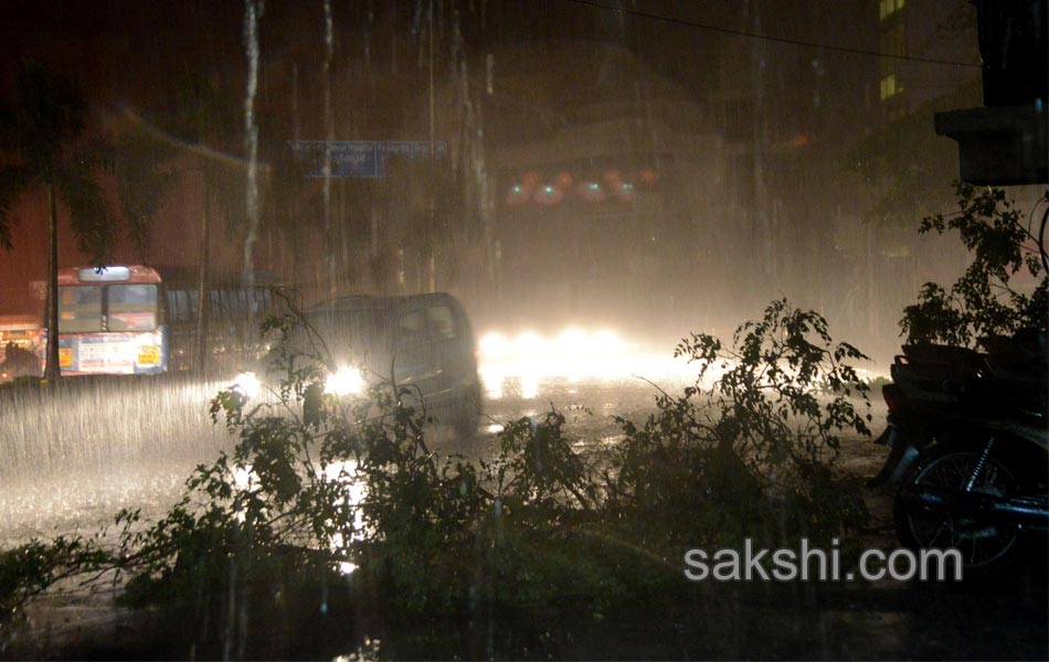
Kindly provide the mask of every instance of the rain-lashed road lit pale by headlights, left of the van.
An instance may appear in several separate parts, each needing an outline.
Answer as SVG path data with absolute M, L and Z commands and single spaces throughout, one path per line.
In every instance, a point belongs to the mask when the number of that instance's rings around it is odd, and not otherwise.
M 121 508 L 160 514 L 197 463 L 232 446 L 208 415 L 218 385 L 114 378 L 70 386 L 53 397 L 3 394 L 4 546 L 94 532 Z

